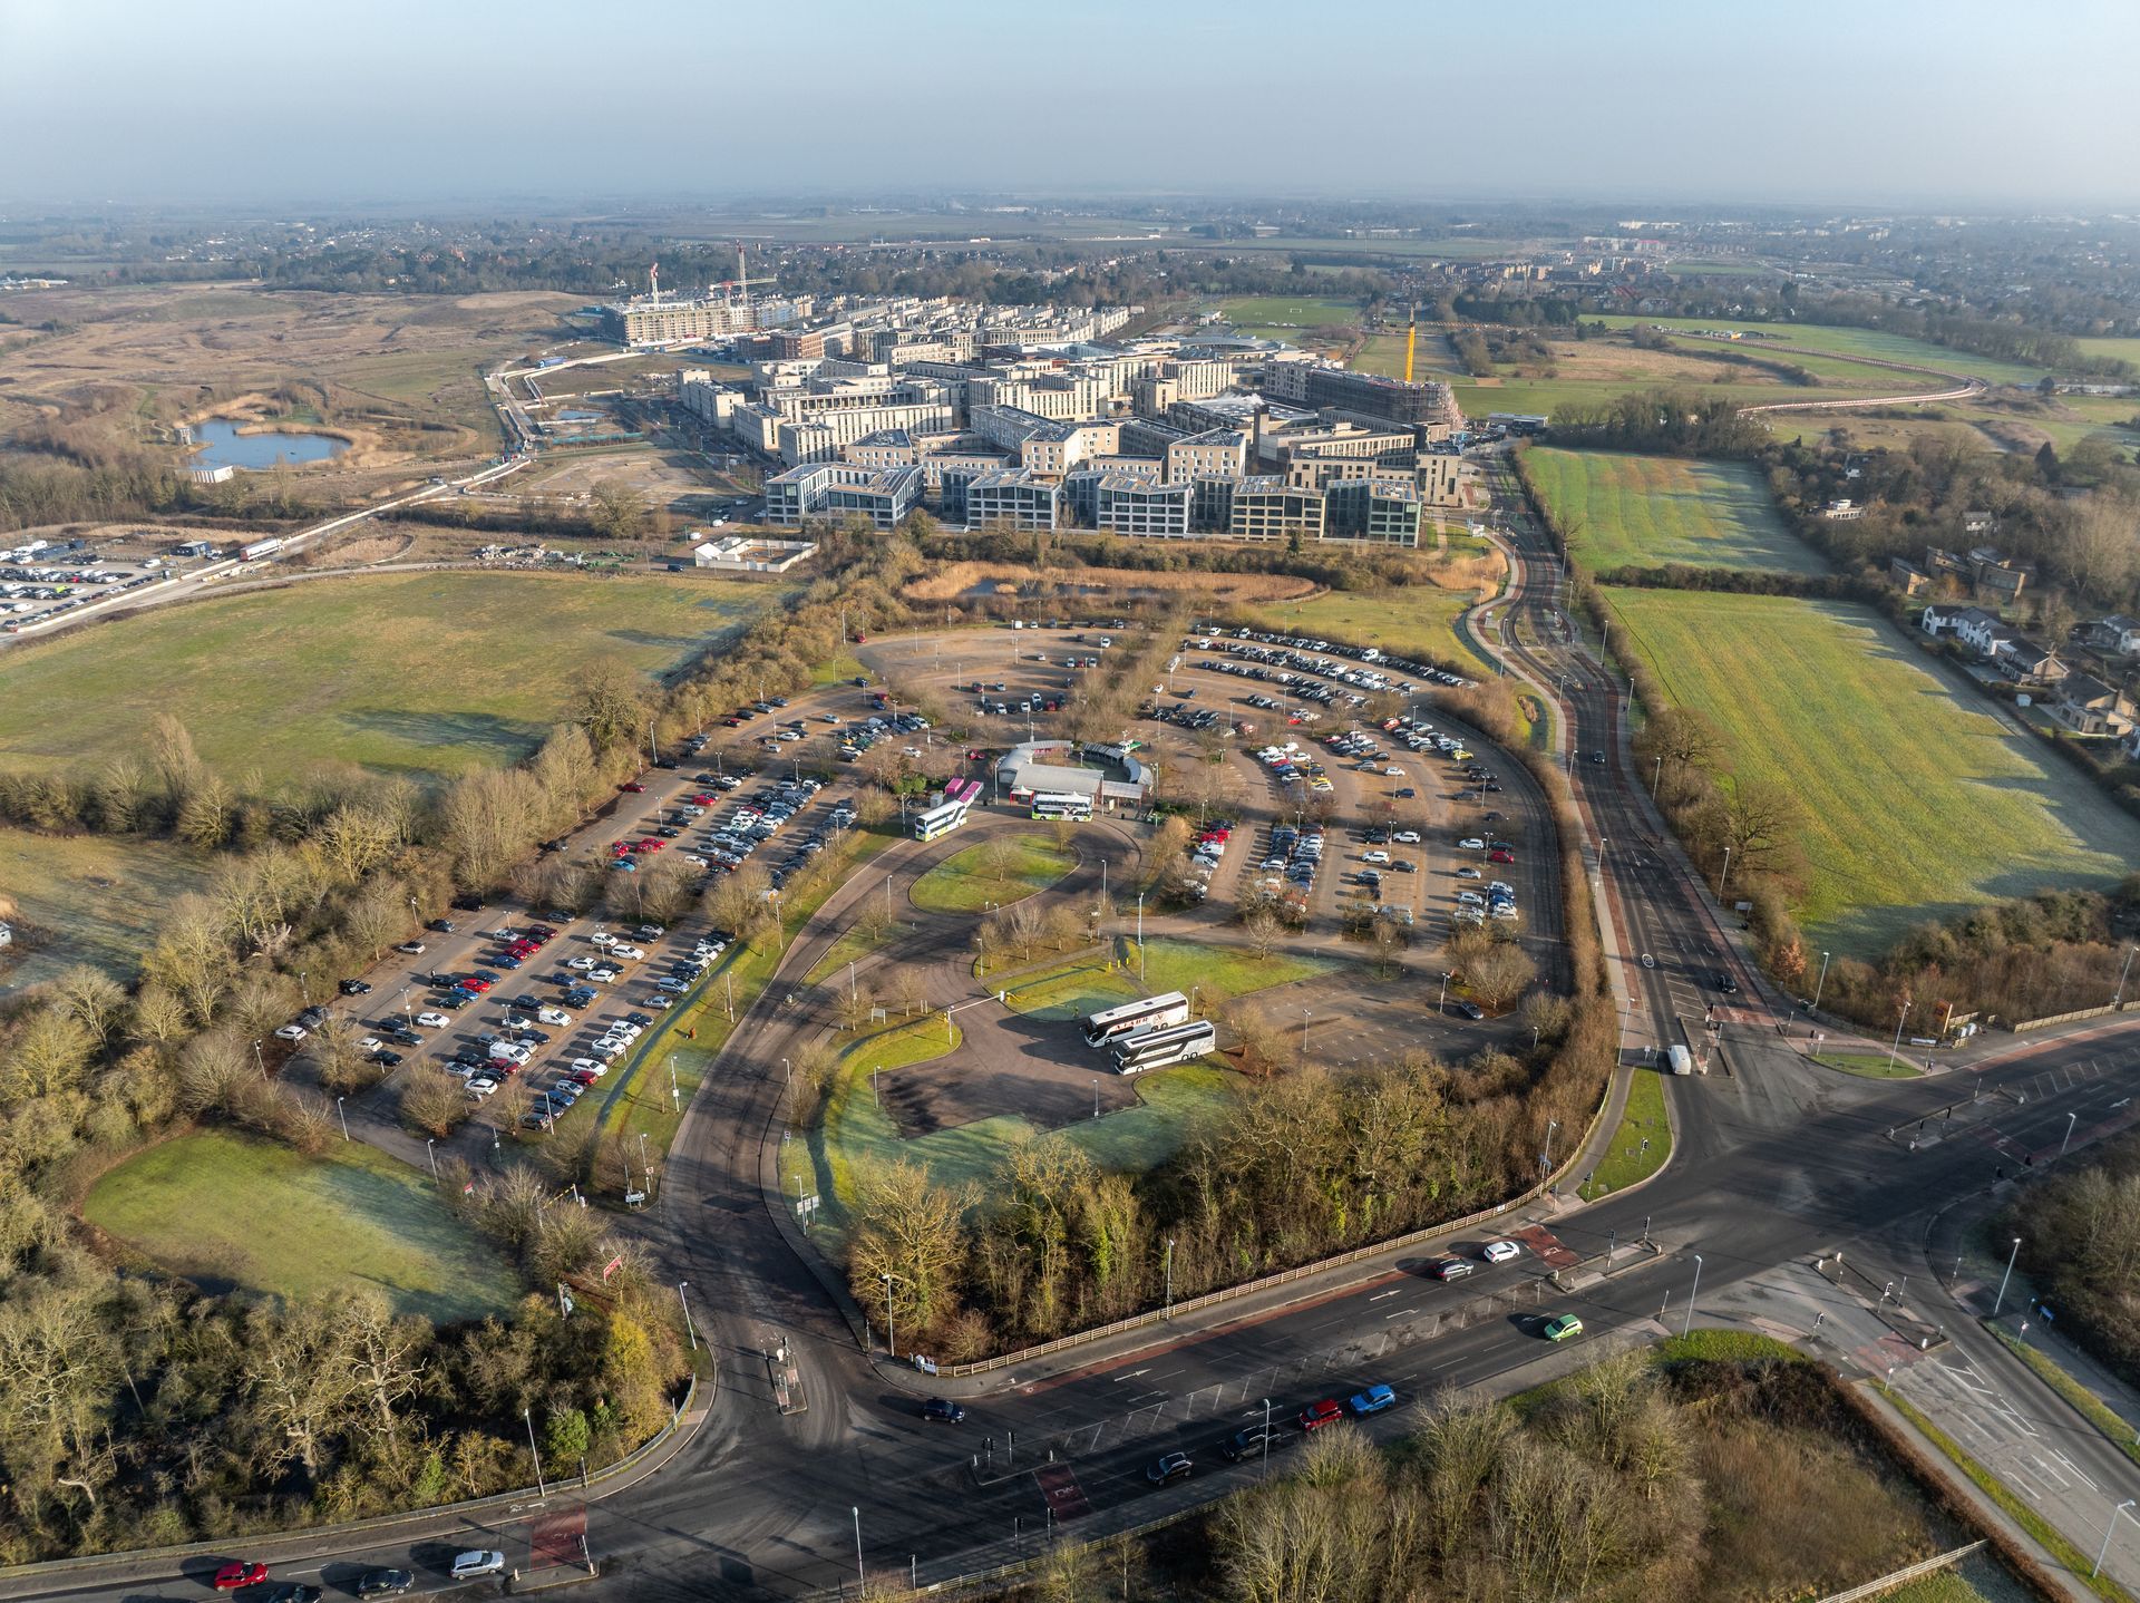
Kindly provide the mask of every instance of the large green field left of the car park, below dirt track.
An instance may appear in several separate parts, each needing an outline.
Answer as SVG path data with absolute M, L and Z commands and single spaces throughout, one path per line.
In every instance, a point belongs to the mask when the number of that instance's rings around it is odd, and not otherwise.
M 139 758 L 171 713 L 233 779 L 317 760 L 452 777 L 531 751 L 591 663 L 661 672 L 783 595 L 696 576 L 383 574 L 165 606 L 11 653 L 0 764 Z

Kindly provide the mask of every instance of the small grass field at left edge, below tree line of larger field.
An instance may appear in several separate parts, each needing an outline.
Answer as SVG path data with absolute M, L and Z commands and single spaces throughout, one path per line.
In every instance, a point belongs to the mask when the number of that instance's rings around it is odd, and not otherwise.
M 75 963 L 131 980 L 163 910 L 208 871 L 210 858 L 163 841 L 0 828 L 0 895 L 15 901 L 19 925 L 0 959 L 0 997 Z

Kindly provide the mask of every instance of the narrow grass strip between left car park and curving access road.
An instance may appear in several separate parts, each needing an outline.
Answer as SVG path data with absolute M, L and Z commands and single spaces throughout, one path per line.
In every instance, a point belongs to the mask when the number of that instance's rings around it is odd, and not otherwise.
M 835 848 L 839 856 L 824 875 L 824 890 L 805 901 L 781 901 L 779 935 L 768 931 L 751 942 L 738 942 L 721 955 L 721 963 L 708 970 L 698 987 L 687 991 L 678 1006 L 663 1017 L 663 1023 L 625 1059 L 616 1085 L 603 1094 L 599 1111 L 603 1136 L 616 1134 L 636 1147 L 644 1134 L 651 1151 L 666 1154 L 670 1149 L 676 1126 L 683 1124 L 683 1109 L 691 1106 L 706 1070 L 779 970 L 788 946 L 802 933 L 824 899 L 895 839 L 895 835 L 847 830 L 841 845 Z M 728 1017 L 730 995 L 734 995 L 734 1021 Z M 674 1094 L 670 1074 L 674 1074 Z

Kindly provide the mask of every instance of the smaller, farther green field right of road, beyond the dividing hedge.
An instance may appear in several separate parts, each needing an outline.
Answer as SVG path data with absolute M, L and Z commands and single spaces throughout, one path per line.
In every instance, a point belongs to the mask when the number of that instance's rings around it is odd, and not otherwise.
M 1594 574 L 1616 567 L 1766 567 L 1825 574 L 1821 554 L 1783 526 L 1768 486 L 1746 462 L 1562 452 L 1524 456 L 1541 497 Z

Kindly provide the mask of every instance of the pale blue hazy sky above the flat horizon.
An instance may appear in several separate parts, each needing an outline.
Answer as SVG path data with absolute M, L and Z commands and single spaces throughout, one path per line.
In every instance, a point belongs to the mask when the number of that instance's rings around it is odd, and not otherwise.
M 2140 0 L 0 0 L 0 201 L 2140 205 Z

